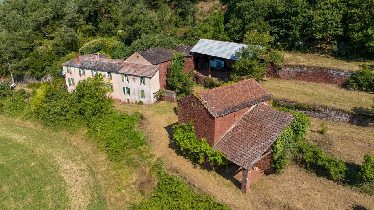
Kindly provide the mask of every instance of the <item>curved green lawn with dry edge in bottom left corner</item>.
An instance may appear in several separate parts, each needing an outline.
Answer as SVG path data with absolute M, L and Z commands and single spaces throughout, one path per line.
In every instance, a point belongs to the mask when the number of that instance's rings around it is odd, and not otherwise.
M 107 201 L 64 136 L 0 115 L 0 209 L 107 209 Z

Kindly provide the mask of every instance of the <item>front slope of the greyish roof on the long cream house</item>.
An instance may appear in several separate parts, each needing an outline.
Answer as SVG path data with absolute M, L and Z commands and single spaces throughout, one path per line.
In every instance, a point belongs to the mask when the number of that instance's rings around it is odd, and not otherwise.
M 114 63 L 114 62 L 103 62 L 103 61 L 93 61 L 88 59 L 79 59 L 80 64 L 76 64 L 74 59 L 68 62 L 63 63 L 63 66 L 69 67 L 76 67 L 76 68 L 84 68 L 89 70 L 98 70 L 98 71 L 110 71 L 110 72 L 117 72 L 122 67 L 123 64 L 121 63 Z

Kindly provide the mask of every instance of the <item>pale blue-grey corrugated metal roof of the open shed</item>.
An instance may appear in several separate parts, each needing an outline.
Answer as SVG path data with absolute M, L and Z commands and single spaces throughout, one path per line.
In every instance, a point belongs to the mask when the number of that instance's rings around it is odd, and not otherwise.
M 239 51 L 242 47 L 248 46 L 248 44 L 200 38 L 197 44 L 191 49 L 191 52 L 237 60 L 238 57 L 235 56 L 235 52 Z

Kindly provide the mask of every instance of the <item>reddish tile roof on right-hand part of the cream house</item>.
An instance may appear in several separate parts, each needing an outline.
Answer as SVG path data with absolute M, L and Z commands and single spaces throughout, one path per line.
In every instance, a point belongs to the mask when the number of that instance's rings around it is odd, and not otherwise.
M 138 75 L 144 77 L 153 77 L 153 75 L 157 72 L 158 69 L 158 65 L 146 65 L 125 62 L 125 64 L 118 71 L 118 73 Z

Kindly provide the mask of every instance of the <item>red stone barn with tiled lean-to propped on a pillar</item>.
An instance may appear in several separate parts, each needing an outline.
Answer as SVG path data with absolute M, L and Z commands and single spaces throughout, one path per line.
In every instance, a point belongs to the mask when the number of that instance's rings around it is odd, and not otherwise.
M 178 100 L 178 124 L 194 120 L 197 139 L 242 167 L 242 191 L 250 191 L 251 169 L 272 173 L 272 144 L 294 119 L 269 106 L 273 96 L 256 80 L 193 93 Z

